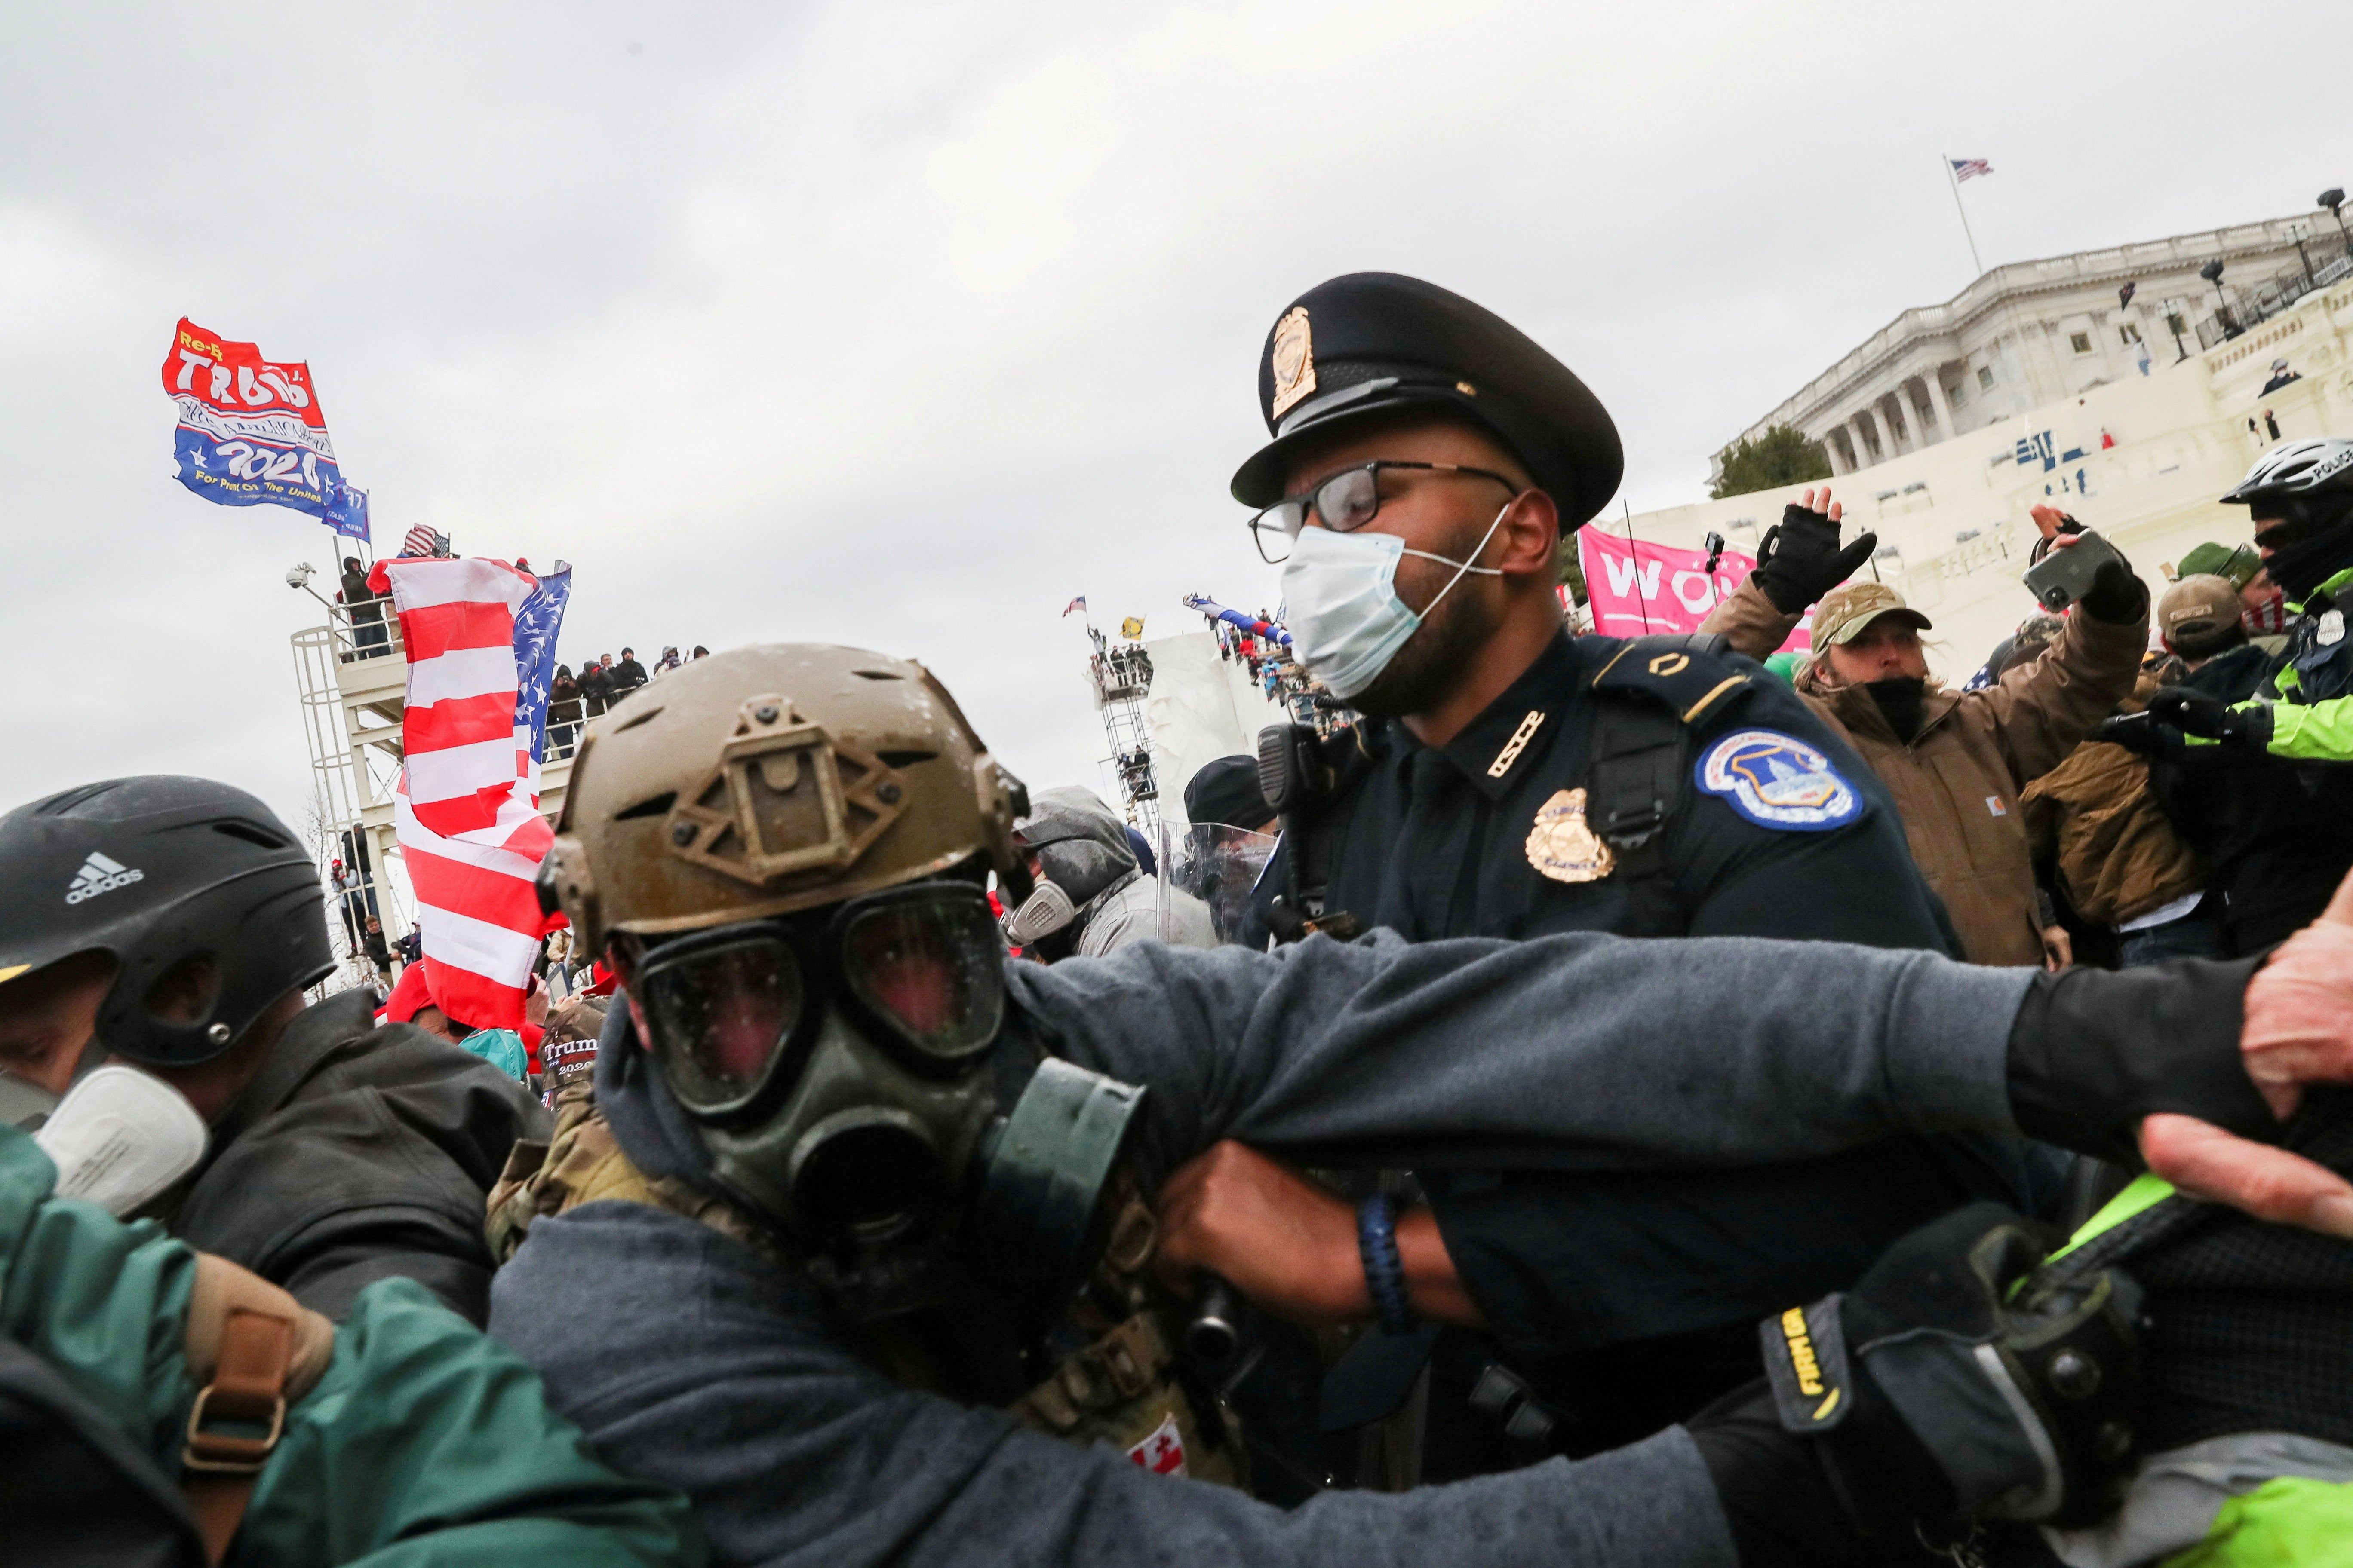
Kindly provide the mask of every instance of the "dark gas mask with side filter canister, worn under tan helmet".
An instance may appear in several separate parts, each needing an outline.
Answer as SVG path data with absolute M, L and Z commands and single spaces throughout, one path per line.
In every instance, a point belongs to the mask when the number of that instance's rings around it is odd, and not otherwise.
M 1047 1060 L 1000 1110 L 1005 945 L 981 889 L 918 882 L 649 947 L 631 1006 L 713 1175 L 852 1316 L 951 1260 L 1038 1302 L 1078 1281 L 1141 1088 Z

